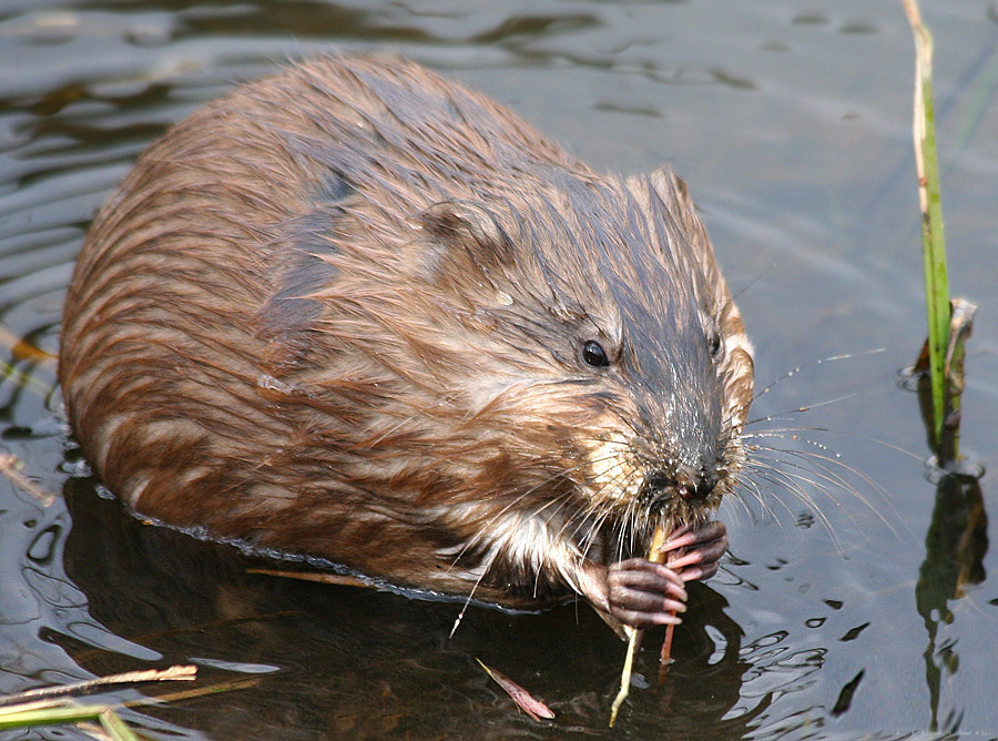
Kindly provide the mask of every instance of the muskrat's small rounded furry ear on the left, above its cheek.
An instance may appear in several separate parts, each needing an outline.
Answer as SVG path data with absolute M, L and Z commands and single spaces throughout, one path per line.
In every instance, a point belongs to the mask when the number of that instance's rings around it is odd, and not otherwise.
M 419 215 L 422 227 L 451 260 L 473 265 L 488 277 L 515 263 L 513 244 L 486 209 L 465 201 L 445 201 Z

